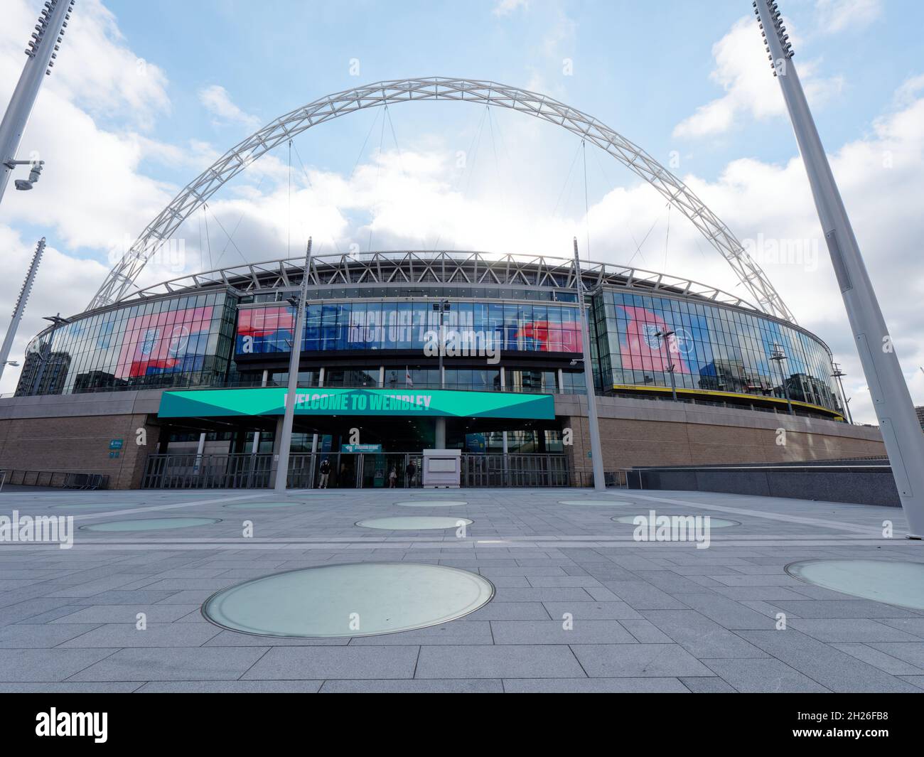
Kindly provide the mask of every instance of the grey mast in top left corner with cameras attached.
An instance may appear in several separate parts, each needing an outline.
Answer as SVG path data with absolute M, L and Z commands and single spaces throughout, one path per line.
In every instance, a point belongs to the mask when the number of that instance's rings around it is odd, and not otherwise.
M 35 104 L 39 87 L 42 86 L 43 77 L 50 76 L 52 67 L 55 66 L 58 46 L 64 36 L 74 2 L 75 0 L 48 0 L 39 14 L 35 31 L 32 32 L 29 45 L 26 47 L 26 55 L 29 58 L 22 67 L 22 74 L 19 75 L 16 89 L 9 105 L 6 106 L 3 121 L 0 121 L 0 201 L 3 201 L 6 184 L 17 165 L 30 164 L 32 169 L 28 180 L 17 182 L 17 189 L 31 189 L 42 171 L 40 161 L 18 161 L 16 153 L 29 121 L 32 105 Z

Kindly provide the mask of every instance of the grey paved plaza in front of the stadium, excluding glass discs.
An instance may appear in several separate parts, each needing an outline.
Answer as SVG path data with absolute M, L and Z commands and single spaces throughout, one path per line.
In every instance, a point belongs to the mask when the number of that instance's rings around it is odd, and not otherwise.
M 428 499 L 466 504 L 396 504 Z M 284 500 L 299 504 L 267 507 Z M 614 521 L 652 509 L 736 525 L 698 549 L 636 542 Z M 885 519 L 905 531 L 897 508 L 577 489 L 5 491 L 0 516 L 13 510 L 73 516 L 76 531 L 71 549 L 0 543 L 0 691 L 924 690 L 924 613 L 784 570 L 813 558 L 924 562 L 920 542 L 883 538 Z M 463 538 L 356 525 L 411 516 L 472 523 Z M 81 528 L 152 518 L 209 522 Z M 357 638 L 255 636 L 201 614 L 241 581 L 359 562 L 462 568 L 495 593 L 444 625 Z

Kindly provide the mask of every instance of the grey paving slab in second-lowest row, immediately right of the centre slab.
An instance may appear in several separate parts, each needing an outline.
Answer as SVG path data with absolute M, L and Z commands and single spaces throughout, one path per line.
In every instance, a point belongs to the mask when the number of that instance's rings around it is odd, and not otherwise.
M 709 676 L 711 671 L 679 644 L 577 644 L 590 678 Z

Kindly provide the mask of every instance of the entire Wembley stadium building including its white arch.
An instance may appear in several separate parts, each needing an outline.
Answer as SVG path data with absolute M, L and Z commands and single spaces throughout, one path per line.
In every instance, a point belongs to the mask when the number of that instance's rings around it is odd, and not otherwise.
M 287 258 L 134 284 L 183 220 L 262 153 L 362 107 L 428 99 L 513 108 L 614 155 L 699 228 L 751 299 L 625 265 L 582 260 L 578 270 L 568 257 L 503 250 L 322 254 L 307 266 Z M 291 486 L 317 485 L 322 465 L 331 486 L 418 486 L 422 451 L 434 447 L 460 451 L 465 486 L 587 485 L 578 290 L 608 480 L 635 466 L 882 452 L 878 431 L 845 421 L 831 350 L 650 155 L 532 92 L 407 79 L 330 95 L 243 140 L 152 221 L 86 311 L 30 341 L 15 397 L 0 400 L 7 480 L 272 485 L 303 286 Z M 444 334 L 442 355 L 428 349 L 434 333 Z

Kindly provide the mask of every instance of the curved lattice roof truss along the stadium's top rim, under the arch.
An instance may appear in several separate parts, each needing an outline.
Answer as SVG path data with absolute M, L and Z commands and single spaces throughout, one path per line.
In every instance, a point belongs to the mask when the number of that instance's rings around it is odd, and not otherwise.
M 459 287 L 557 287 L 575 286 L 574 261 L 548 255 L 497 254 L 457 250 L 395 250 L 313 255 L 309 286 L 354 287 L 359 285 L 427 284 Z M 241 263 L 201 274 L 180 276 L 140 289 L 123 301 L 164 297 L 214 287 L 232 287 L 239 294 L 279 288 L 297 288 L 305 270 L 305 259 L 292 257 L 262 263 Z M 627 265 L 581 261 L 581 281 L 587 290 L 621 287 L 657 291 L 663 294 L 708 299 L 723 305 L 756 311 L 747 300 L 686 278 Z

